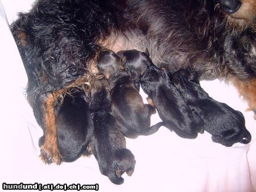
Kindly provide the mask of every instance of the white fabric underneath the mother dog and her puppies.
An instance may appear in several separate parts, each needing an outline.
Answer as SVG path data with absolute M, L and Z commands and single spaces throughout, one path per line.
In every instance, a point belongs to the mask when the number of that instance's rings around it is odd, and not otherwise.
M 32 0 L 2 0 L 7 19 L 13 22 L 16 12 L 30 9 Z M 253 139 L 250 144 L 224 147 L 213 143 L 209 133 L 197 139 L 182 139 L 161 127 L 151 136 L 127 139 L 136 160 L 133 176 L 123 175 L 125 183 L 114 185 L 98 169 L 92 156 L 72 163 L 44 165 L 38 158 L 38 139 L 42 130 L 24 95 L 26 72 L 16 48 L 5 12 L 0 6 L 1 128 L 0 191 L 2 183 L 98 183 L 100 191 L 254 191 L 256 189 L 256 132 L 253 112 L 237 91 L 224 82 L 203 81 L 201 85 L 217 101 L 240 110 Z M 143 97 L 146 95 L 142 93 Z M 146 102 L 146 100 L 145 100 Z M 159 122 L 153 115 L 151 123 Z

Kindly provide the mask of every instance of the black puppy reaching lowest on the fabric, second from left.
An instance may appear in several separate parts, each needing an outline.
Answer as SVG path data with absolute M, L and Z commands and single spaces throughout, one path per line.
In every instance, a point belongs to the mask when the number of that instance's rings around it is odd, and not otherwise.
M 89 102 L 93 120 L 92 152 L 98 161 L 100 172 L 115 184 L 123 183 L 123 173 L 134 172 L 133 153 L 126 149 L 125 137 L 117 126 L 110 106 L 108 82 L 93 82 Z

